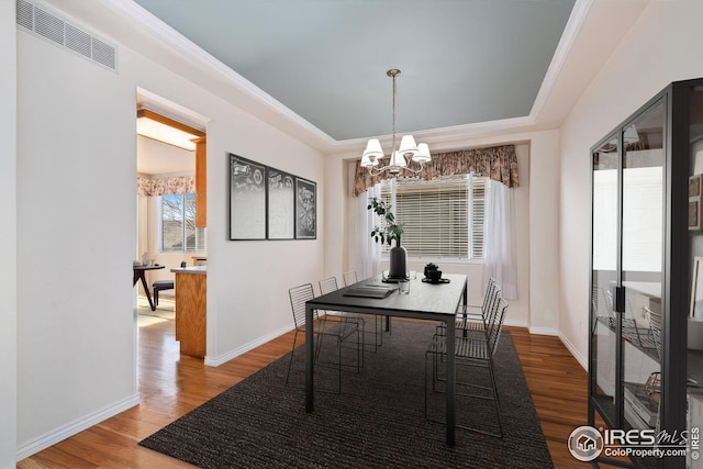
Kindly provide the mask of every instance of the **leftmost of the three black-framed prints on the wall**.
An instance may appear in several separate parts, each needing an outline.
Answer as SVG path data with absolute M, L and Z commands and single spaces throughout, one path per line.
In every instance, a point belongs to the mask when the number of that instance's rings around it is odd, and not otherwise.
M 230 154 L 230 239 L 266 239 L 266 166 Z

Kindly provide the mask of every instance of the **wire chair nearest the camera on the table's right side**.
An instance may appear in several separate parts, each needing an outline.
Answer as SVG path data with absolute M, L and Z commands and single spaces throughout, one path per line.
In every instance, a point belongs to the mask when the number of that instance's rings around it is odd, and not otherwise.
M 498 348 L 498 343 L 500 339 L 501 331 L 503 328 L 503 322 L 505 320 L 505 313 L 507 311 L 507 302 L 502 298 L 499 299 L 498 308 L 495 314 L 489 319 L 487 322 L 487 327 L 483 334 L 468 334 L 468 335 L 457 335 L 455 343 L 455 356 L 456 356 L 456 369 L 457 376 L 459 376 L 459 369 L 461 367 L 480 367 L 484 368 L 488 371 L 489 379 L 487 383 L 475 382 L 478 380 L 477 372 L 467 373 L 468 377 L 472 381 L 460 381 L 457 379 L 457 395 L 462 395 L 470 399 L 481 399 L 487 401 L 492 401 L 495 410 L 495 423 L 496 431 L 492 431 L 486 426 L 470 426 L 466 424 L 461 424 L 457 422 L 457 427 L 469 429 L 471 432 L 481 433 L 484 435 L 495 436 L 498 438 L 503 437 L 503 427 L 501 424 L 500 416 L 500 406 L 499 406 L 499 394 L 498 387 L 495 382 L 495 373 L 493 367 L 493 355 Z M 442 381 L 439 377 L 439 362 L 446 360 L 447 355 L 447 343 L 446 335 L 435 334 L 432 338 L 432 343 L 425 353 L 425 417 L 431 421 L 442 422 L 439 420 L 434 420 L 428 415 L 427 411 L 427 393 L 429 384 L 427 382 L 427 361 L 428 358 L 432 357 L 432 390 L 435 392 L 438 391 L 438 387 L 436 383 Z M 483 393 L 466 393 L 461 392 L 460 389 L 469 388 L 469 389 L 480 389 L 483 390 Z M 442 422 L 444 423 L 444 422 Z

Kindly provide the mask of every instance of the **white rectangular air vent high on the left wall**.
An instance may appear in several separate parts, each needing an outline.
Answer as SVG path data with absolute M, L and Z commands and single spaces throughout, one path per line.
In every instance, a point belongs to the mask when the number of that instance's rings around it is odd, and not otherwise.
M 118 70 L 118 48 L 102 38 L 70 24 L 43 7 L 26 0 L 18 1 L 16 23 L 22 30 L 49 41 L 90 62 Z

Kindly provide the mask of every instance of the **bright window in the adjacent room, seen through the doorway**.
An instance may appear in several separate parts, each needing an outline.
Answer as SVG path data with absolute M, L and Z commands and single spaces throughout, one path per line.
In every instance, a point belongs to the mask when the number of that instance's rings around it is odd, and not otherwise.
M 205 250 L 205 228 L 196 227 L 196 194 L 161 196 L 161 252 Z

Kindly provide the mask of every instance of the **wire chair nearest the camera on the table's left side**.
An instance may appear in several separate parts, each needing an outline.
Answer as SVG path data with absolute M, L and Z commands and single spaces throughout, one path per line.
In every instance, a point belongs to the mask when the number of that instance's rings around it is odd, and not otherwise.
M 312 288 L 312 283 L 304 283 L 298 287 L 293 287 L 288 290 L 290 297 L 291 311 L 293 313 L 293 322 L 295 324 L 295 334 L 293 336 L 293 347 L 290 354 L 290 361 L 288 364 L 288 372 L 286 373 L 286 386 L 290 380 L 290 371 L 293 365 L 293 357 L 295 354 L 295 346 L 298 343 L 298 334 L 305 333 L 305 302 L 315 298 L 315 293 Z M 356 322 L 354 321 L 326 321 L 320 319 L 317 311 L 314 311 L 314 362 L 315 366 L 334 366 L 337 368 L 337 390 L 336 393 L 342 392 L 342 370 L 356 369 L 359 372 L 361 364 L 361 335 Z M 350 343 L 356 336 L 356 365 L 344 365 L 342 360 L 343 345 Z M 321 351 L 323 346 L 323 339 L 331 338 L 335 342 L 337 347 L 337 361 L 324 361 L 321 359 Z M 304 351 L 303 351 L 304 353 Z

